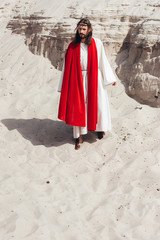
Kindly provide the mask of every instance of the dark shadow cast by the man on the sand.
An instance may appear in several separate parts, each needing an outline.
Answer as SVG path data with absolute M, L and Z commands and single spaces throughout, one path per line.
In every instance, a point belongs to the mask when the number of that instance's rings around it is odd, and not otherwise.
M 33 145 L 45 147 L 60 146 L 66 143 L 74 144 L 72 126 L 62 121 L 50 119 L 3 119 L 1 122 L 9 131 L 17 130 L 25 139 Z M 93 133 L 87 134 L 85 139 L 92 143 L 96 141 Z

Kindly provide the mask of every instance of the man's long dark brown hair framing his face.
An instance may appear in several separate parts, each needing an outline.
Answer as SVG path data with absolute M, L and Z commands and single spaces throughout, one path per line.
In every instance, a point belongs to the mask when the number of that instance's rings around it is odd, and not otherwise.
M 91 40 L 92 40 L 92 30 L 93 29 L 92 29 L 92 25 L 91 25 L 91 23 L 90 23 L 88 18 L 82 18 L 77 23 L 77 27 L 76 27 L 77 31 L 76 31 L 76 34 L 75 34 L 73 42 L 74 43 L 79 43 L 81 41 L 81 38 L 80 38 L 79 33 L 78 33 L 78 26 L 79 25 L 84 25 L 84 26 L 87 25 L 87 27 L 88 27 L 89 32 L 88 32 L 88 35 L 86 36 L 86 42 L 85 43 L 89 46 L 91 44 Z

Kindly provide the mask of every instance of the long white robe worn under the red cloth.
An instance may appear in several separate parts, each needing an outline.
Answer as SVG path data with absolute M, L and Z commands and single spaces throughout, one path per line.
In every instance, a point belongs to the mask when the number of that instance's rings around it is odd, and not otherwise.
M 112 71 L 112 68 L 108 62 L 105 54 L 103 43 L 100 39 L 94 38 L 97 46 L 98 53 L 98 122 L 95 131 L 108 131 L 111 130 L 111 116 L 107 92 L 105 86 L 116 82 L 116 77 Z M 81 56 L 81 69 L 83 76 L 83 87 L 85 104 L 87 104 L 87 65 L 88 65 L 88 46 L 85 43 L 80 43 L 80 56 Z M 61 78 L 58 86 L 58 92 L 61 92 L 63 74 L 64 74 L 65 61 L 63 63 Z M 87 111 L 87 107 L 86 107 Z M 87 112 L 86 112 L 87 122 Z M 86 127 L 73 126 L 73 137 L 78 138 L 81 134 L 87 134 Z

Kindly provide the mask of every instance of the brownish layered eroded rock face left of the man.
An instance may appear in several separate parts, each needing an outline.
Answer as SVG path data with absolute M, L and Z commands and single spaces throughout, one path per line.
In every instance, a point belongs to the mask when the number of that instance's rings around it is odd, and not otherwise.
M 17 16 L 8 23 L 7 28 L 15 34 L 24 35 L 25 43 L 33 54 L 43 55 L 55 68 L 61 69 L 73 33 L 67 33 L 65 23 L 48 23 L 48 19 L 39 15 Z

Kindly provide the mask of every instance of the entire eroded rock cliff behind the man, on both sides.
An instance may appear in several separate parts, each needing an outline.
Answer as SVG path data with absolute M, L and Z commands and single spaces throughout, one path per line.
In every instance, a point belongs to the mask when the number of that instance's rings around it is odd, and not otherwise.
M 33 54 L 49 58 L 61 70 L 75 26 L 81 17 L 87 16 L 93 25 L 94 36 L 103 41 L 113 69 L 117 64 L 116 73 L 126 92 L 141 103 L 160 107 L 158 0 L 154 3 L 149 0 L 141 3 L 103 1 L 104 9 L 94 7 L 87 10 L 87 14 L 86 9 L 79 10 L 81 3 L 69 4 L 67 13 L 59 19 L 46 16 L 43 10 L 23 15 L 24 9 L 20 12 L 16 8 L 7 28 L 24 35 L 25 43 Z M 86 1 L 82 1 L 82 6 L 86 6 Z

